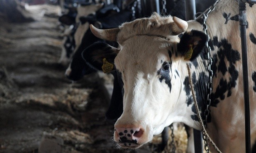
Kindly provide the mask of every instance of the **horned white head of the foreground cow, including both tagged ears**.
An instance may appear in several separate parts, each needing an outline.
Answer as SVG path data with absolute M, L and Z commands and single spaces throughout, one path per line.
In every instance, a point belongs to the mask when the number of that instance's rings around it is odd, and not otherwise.
M 187 27 L 187 22 L 177 17 L 156 13 L 116 29 L 90 25 L 95 36 L 120 45 L 114 48 L 97 43 L 83 56 L 90 57 L 85 58 L 88 65 L 114 70 L 119 76 L 123 113 L 115 123 L 114 140 L 123 148 L 142 146 L 173 122 L 192 124 L 189 115 L 193 112 L 187 108 L 183 85 L 183 74 L 188 74 L 184 63 L 189 60 L 184 57 L 194 60 L 207 37 L 190 31 L 179 38 Z

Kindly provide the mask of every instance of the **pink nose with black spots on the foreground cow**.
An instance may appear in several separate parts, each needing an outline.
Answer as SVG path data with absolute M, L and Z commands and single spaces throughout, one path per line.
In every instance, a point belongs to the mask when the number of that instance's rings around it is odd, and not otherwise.
M 143 137 L 144 129 L 138 127 L 115 128 L 115 140 L 124 148 L 137 148 L 140 146 L 141 138 Z

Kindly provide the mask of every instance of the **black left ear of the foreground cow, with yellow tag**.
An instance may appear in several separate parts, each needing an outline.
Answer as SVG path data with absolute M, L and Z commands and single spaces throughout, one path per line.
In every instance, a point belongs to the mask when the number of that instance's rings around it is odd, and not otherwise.
M 114 70 L 114 60 L 119 49 L 103 42 L 96 42 L 86 48 L 82 57 L 86 64 L 93 69 L 103 71 L 104 73 Z

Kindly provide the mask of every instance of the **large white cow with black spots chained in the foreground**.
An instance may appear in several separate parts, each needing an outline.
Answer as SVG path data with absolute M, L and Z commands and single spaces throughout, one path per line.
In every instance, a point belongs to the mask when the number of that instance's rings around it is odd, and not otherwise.
M 251 145 L 256 141 L 256 10 L 246 4 L 248 79 L 251 118 Z M 210 117 L 206 130 L 220 151 L 245 152 L 244 93 L 242 83 L 239 23 L 224 25 L 224 13 L 238 14 L 238 2 L 220 1 L 207 18 L 213 59 Z M 251 25 L 251 26 L 250 26 Z M 99 38 L 117 41 L 119 48 L 106 43 L 83 52 L 86 62 L 100 69 L 103 59 L 112 64 L 123 93 L 123 113 L 115 123 L 114 141 L 122 148 L 139 148 L 173 122 L 201 130 L 189 80 L 192 80 L 200 112 L 206 108 L 207 58 L 203 49 L 207 36 L 199 22 L 177 17 L 136 19 L 115 29 L 97 29 Z M 185 57 L 188 57 L 184 59 Z M 189 78 L 188 69 L 192 78 Z M 212 153 L 216 151 L 210 145 Z

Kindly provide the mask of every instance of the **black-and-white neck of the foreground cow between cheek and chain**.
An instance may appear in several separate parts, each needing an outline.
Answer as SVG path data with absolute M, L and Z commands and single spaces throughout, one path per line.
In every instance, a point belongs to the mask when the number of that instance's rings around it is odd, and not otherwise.
M 193 100 L 193 96 L 192 96 L 192 92 L 191 92 L 191 87 L 189 84 L 189 80 L 192 80 L 193 83 L 193 89 L 195 91 L 195 96 L 196 96 L 196 100 L 197 100 L 197 104 L 200 108 L 201 112 L 204 112 L 205 110 L 205 104 L 206 104 L 206 98 L 207 98 L 207 83 L 208 83 L 208 72 L 206 70 L 206 62 L 204 59 L 203 55 L 200 55 L 200 57 L 198 57 L 197 59 L 195 59 L 192 62 L 189 62 L 189 67 L 190 67 L 190 72 L 191 72 L 191 78 L 189 78 L 188 75 L 188 69 L 186 66 L 186 62 L 184 63 L 180 63 L 180 69 L 181 72 L 184 75 L 184 77 L 181 76 L 181 83 L 183 85 L 182 87 L 182 92 L 183 94 L 185 93 L 185 96 L 181 96 L 180 100 L 182 100 L 183 102 L 185 102 L 186 108 L 187 110 L 187 114 L 189 115 L 188 118 L 190 119 L 189 123 L 185 123 L 185 124 L 190 124 L 190 122 L 197 122 L 197 124 L 192 124 L 193 128 L 195 129 L 200 129 L 200 125 L 199 125 L 199 120 L 197 117 L 197 112 L 195 109 L 195 104 L 194 104 L 194 100 Z M 186 97 L 184 99 L 184 97 Z M 201 114 L 201 116 L 203 117 L 203 114 Z M 194 127 L 195 126 L 195 127 Z

